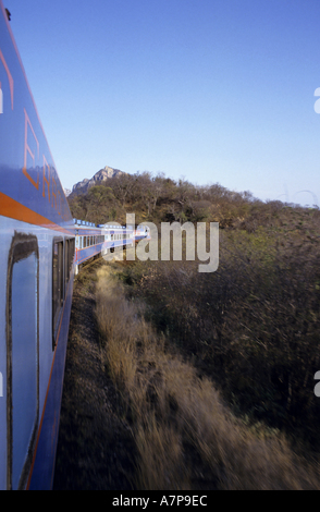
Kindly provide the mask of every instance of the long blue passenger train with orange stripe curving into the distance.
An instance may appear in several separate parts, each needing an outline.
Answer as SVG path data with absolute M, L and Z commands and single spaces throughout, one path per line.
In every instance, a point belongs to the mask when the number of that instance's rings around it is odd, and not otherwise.
M 73 219 L 0 0 L 0 489 L 52 489 L 73 283 L 143 225 Z

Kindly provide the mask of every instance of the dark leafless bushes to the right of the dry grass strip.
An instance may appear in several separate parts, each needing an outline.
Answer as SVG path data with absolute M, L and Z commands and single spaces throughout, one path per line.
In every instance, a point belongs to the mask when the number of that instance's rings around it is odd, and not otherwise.
M 319 449 L 319 242 L 299 230 L 220 235 L 217 272 L 136 261 L 122 276 L 128 293 L 234 411 Z

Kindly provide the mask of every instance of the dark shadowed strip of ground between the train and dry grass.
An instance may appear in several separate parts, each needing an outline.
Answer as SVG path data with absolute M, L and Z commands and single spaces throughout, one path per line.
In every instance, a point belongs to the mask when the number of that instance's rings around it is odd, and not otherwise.
M 97 269 L 75 280 L 54 490 L 131 489 L 134 441 L 122 401 L 106 374 L 95 320 Z

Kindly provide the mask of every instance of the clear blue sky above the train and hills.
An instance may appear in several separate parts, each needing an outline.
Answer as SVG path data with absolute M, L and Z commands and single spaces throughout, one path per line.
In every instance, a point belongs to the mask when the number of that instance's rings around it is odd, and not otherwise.
M 320 206 L 319 0 L 3 3 L 64 187 L 110 166 Z

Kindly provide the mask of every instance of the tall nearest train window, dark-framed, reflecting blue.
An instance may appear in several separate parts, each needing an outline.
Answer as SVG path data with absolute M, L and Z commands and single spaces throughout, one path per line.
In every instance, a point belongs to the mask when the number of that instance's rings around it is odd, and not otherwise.
M 7 284 L 8 489 L 24 489 L 39 420 L 39 252 L 15 234 Z M 23 426 L 23 428 L 22 428 Z

